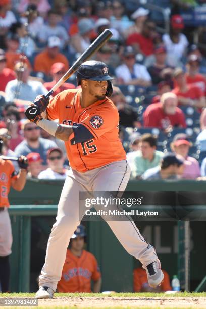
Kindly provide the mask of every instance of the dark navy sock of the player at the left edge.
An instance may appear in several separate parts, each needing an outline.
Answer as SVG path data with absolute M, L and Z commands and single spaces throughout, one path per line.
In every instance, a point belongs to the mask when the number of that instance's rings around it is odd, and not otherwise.
M 0 256 L 0 282 L 2 293 L 9 292 L 10 265 L 9 255 Z

